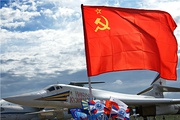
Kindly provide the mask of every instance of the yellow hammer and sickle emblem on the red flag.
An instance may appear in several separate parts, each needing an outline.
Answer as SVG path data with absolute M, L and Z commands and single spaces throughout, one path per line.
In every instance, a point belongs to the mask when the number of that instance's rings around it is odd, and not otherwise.
M 97 26 L 95 29 L 95 32 L 97 32 L 98 30 L 105 30 L 105 29 L 110 30 L 110 27 L 108 26 L 108 24 L 109 24 L 108 20 L 102 15 L 101 15 L 101 17 L 105 20 L 105 24 L 101 22 L 101 18 L 97 18 L 94 23 L 96 25 L 100 24 L 102 27 Z

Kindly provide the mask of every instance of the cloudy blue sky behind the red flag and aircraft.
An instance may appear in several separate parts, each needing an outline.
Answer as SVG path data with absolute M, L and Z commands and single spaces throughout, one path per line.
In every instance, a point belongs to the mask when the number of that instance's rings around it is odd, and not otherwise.
M 180 0 L 0 1 L 1 98 L 55 83 L 88 81 L 81 4 L 167 11 L 178 25 L 174 34 L 180 42 Z M 167 85 L 180 86 L 178 68 L 178 80 Z M 152 71 L 121 71 L 91 80 L 106 82 L 94 88 L 136 94 L 149 87 L 155 76 Z M 179 98 L 180 94 L 166 96 Z

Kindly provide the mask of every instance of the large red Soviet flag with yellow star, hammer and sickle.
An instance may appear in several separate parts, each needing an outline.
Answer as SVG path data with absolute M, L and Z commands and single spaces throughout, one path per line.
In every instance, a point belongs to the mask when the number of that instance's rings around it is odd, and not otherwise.
M 159 10 L 81 6 L 88 76 L 153 70 L 176 80 L 176 23 Z

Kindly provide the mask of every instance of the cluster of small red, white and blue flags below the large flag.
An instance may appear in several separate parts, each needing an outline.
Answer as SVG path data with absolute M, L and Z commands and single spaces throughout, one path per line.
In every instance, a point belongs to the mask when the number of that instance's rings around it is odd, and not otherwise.
M 82 100 L 82 108 L 70 109 L 74 120 L 129 120 L 128 106 L 118 99 Z

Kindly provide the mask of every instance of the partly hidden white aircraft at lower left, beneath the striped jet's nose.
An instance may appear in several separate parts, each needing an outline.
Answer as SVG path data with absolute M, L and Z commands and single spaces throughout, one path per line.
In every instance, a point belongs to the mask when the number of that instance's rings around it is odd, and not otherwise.
M 40 109 L 37 107 L 27 107 L 18 104 L 13 104 L 5 100 L 0 100 L 1 104 L 1 119 L 0 120 L 57 120 L 56 114 L 63 115 L 61 119 L 71 118 L 68 115 L 67 109 L 63 111 L 55 111 L 54 109 Z

